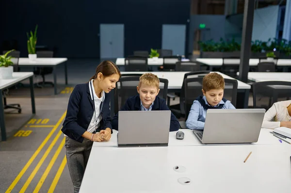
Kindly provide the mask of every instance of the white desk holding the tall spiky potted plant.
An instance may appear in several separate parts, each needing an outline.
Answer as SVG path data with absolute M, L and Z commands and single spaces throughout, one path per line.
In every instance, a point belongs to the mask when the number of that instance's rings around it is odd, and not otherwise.
M 36 58 L 36 60 L 30 60 L 28 58 L 19 58 L 19 66 L 36 66 L 36 67 L 52 67 L 53 68 L 53 83 L 54 83 L 54 94 L 57 94 L 57 71 L 56 66 L 64 63 L 65 64 L 65 84 L 68 84 L 67 76 L 67 58 Z

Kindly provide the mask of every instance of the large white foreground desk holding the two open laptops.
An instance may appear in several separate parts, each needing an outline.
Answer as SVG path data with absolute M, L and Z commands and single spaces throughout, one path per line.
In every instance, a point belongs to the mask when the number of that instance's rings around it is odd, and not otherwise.
M 80 193 L 288 193 L 290 152 L 291 146 L 283 143 L 150 148 L 94 145 Z M 175 171 L 177 165 L 185 171 Z M 180 184 L 179 178 L 189 178 L 190 183 Z

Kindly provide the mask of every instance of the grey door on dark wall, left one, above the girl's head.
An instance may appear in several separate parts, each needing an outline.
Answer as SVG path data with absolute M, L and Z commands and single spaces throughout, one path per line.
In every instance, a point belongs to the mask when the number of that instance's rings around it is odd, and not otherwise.
M 124 24 L 100 24 L 100 58 L 124 57 Z

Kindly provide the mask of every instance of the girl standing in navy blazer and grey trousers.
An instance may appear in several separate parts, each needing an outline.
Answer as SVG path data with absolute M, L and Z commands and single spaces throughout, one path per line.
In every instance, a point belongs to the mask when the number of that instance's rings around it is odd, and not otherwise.
M 90 81 L 77 85 L 69 98 L 62 132 L 74 193 L 80 190 L 93 142 L 111 138 L 110 91 L 119 77 L 112 61 L 102 61 Z

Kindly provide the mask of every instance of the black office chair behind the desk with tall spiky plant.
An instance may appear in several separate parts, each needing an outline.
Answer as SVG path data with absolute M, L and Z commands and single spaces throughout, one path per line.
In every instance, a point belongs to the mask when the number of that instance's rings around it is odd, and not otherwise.
M 53 51 L 37 51 L 36 52 L 37 58 L 53 58 Z M 35 83 L 37 87 L 44 87 L 45 85 L 50 85 L 54 87 L 52 82 L 45 81 L 45 75 L 52 74 L 53 68 L 52 67 L 36 67 L 33 71 L 34 75 L 41 75 L 42 82 Z

